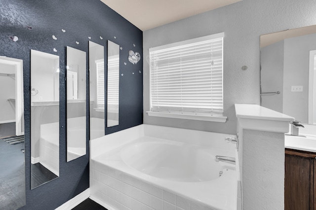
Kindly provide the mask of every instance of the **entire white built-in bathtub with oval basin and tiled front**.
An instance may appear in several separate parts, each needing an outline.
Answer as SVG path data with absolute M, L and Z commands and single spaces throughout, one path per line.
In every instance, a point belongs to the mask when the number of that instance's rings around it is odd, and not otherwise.
M 235 165 L 215 162 L 235 157 L 229 136 L 140 125 L 91 140 L 91 199 L 109 210 L 236 210 Z

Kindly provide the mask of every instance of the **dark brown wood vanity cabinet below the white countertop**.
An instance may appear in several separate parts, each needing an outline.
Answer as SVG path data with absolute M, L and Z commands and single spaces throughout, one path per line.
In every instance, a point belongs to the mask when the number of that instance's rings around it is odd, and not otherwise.
M 315 158 L 313 152 L 285 149 L 285 210 L 316 210 Z

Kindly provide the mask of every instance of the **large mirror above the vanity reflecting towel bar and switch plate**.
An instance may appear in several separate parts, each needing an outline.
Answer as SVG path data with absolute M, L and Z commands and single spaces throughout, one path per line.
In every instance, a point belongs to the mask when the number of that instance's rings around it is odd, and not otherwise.
M 316 26 L 261 35 L 260 47 L 261 105 L 316 124 Z

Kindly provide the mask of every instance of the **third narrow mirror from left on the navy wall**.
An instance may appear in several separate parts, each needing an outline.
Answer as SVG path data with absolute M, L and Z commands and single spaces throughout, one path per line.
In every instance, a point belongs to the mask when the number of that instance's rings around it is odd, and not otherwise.
M 86 151 L 86 53 L 67 46 L 67 162 Z

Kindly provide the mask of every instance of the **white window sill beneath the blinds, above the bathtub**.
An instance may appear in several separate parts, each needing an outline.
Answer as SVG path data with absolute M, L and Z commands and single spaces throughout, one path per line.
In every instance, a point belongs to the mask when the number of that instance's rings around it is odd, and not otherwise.
M 154 117 L 168 117 L 168 118 L 178 118 L 178 119 L 187 119 L 187 120 L 200 120 L 200 121 L 209 121 L 209 122 L 226 122 L 227 117 L 223 116 L 204 116 L 204 115 L 195 115 L 195 114 L 177 114 L 177 113 L 168 113 L 168 112 L 158 112 L 158 111 L 147 111 L 149 116 Z

